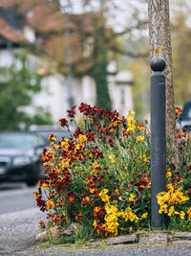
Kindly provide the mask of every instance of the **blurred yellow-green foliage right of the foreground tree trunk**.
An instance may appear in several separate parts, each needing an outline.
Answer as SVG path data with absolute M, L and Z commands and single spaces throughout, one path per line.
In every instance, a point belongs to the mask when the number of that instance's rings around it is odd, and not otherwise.
M 191 27 L 185 12 L 176 14 L 172 23 L 172 46 L 176 105 L 184 105 L 191 98 Z

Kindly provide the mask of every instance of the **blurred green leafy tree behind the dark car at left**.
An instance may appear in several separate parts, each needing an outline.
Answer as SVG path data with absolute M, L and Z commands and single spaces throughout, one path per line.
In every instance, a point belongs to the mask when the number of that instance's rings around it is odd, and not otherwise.
M 33 115 L 25 111 L 32 105 L 32 96 L 39 92 L 41 76 L 28 65 L 25 56 L 15 56 L 11 67 L 0 68 L 0 112 L 1 130 L 29 128 L 32 124 L 53 124 L 51 115 L 45 109 L 37 107 Z

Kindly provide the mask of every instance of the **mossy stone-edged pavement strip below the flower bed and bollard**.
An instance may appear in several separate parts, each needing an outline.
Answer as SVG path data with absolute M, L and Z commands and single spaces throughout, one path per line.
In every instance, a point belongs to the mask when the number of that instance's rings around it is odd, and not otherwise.
M 12 255 L 191 255 L 191 232 L 163 232 L 119 236 L 84 244 L 33 244 L 31 248 Z

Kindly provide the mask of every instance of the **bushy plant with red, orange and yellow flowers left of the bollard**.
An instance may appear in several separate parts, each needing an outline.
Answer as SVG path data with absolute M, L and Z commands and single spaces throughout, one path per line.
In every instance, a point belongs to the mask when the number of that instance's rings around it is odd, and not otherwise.
M 75 116 L 83 115 L 76 124 Z M 135 112 L 81 104 L 68 110 L 61 126 L 75 124 L 71 139 L 56 142 L 42 158 L 46 178 L 34 193 L 48 223 L 65 229 L 78 222 L 91 236 L 111 237 L 149 228 L 151 223 L 150 131 Z M 188 192 L 186 192 L 188 193 Z M 186 194 L 189 197 L 188 194 Z M 161 195 L 160 195 L 161 196 Z M 159 204 L 160 205 L 160 204 Z M 163 212 L 161 211 L 163 214 Z M 48 225 L 40 221 L 46 228 Z

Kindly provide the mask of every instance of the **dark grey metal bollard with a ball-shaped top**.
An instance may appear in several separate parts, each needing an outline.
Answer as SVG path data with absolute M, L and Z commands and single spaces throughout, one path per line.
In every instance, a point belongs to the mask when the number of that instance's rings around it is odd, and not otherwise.
M 154 229 L 162 226 L 157 196 L 166 191 L 165 69 L 163 58 L 153 58 L 151 75 L 151 221 Z

